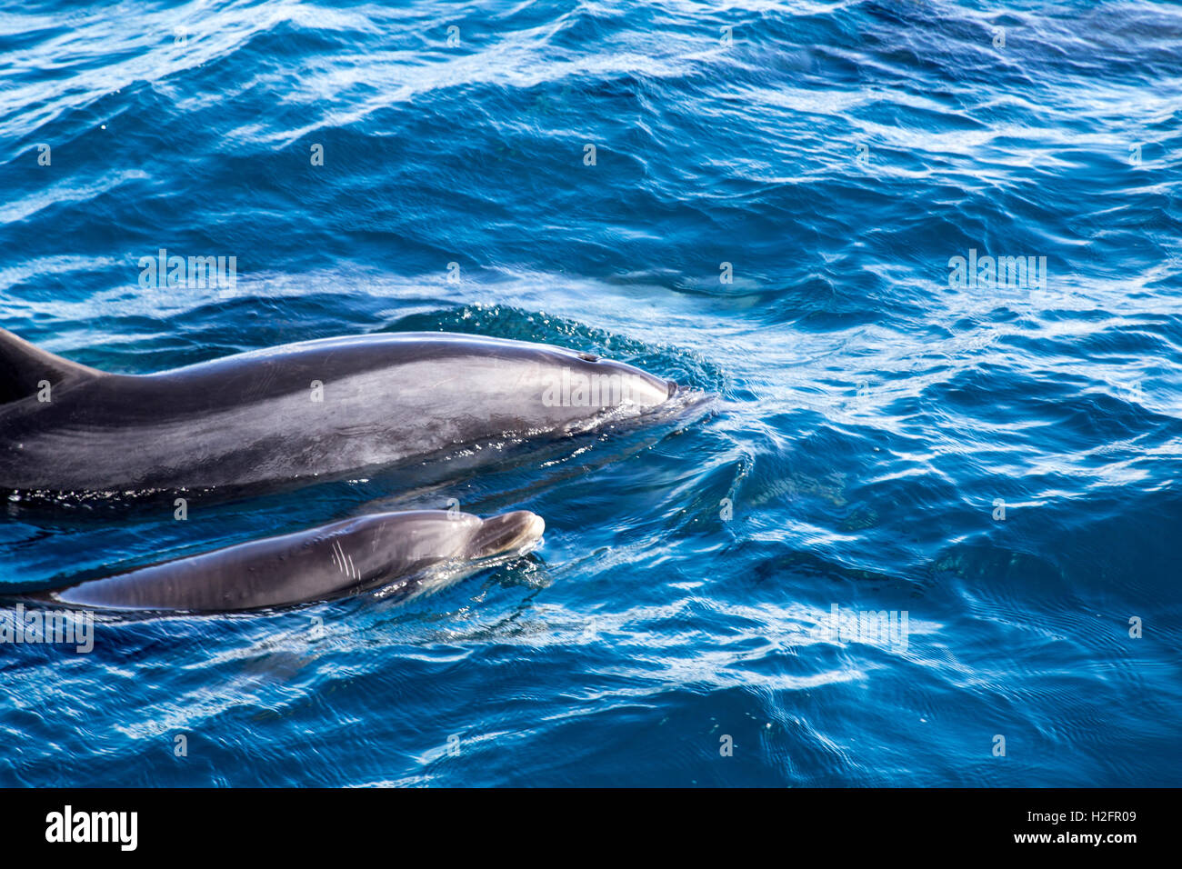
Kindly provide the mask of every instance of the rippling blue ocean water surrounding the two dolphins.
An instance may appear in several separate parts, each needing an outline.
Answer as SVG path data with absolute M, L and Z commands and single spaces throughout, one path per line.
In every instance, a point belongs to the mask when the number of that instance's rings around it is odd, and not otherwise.
M 472 332 L 706 398 L 188 521 L 8 502 L 17 589 L 449 499 L 547 531 L 408 603 L 2 644 L 0 784 L 1182 784 L 1180 125 L 1167 2 L 7 0 L 4 328 L 123 372 Z

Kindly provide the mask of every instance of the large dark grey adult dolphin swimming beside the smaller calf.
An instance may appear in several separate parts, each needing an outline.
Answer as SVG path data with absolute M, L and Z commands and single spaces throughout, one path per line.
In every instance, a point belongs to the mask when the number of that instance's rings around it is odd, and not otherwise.
M 675 390 L 591 354 L 469 335 L 326 338 L 119 375 L 0 330 L 0 489 L 139 494 L 340 478 L 586 430 Z

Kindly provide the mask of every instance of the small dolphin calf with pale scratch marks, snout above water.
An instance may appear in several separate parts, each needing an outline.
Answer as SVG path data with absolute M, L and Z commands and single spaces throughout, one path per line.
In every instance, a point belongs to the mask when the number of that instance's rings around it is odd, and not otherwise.
M 527 511 L 487 519 L 422 510 L 372 513 L 282 537 L 90 579 L 37 597 L 70 607 L 228 612 L 389 588 L 408 594 L 440 565 L 472 572 L 527 552 L 545 530 Z

